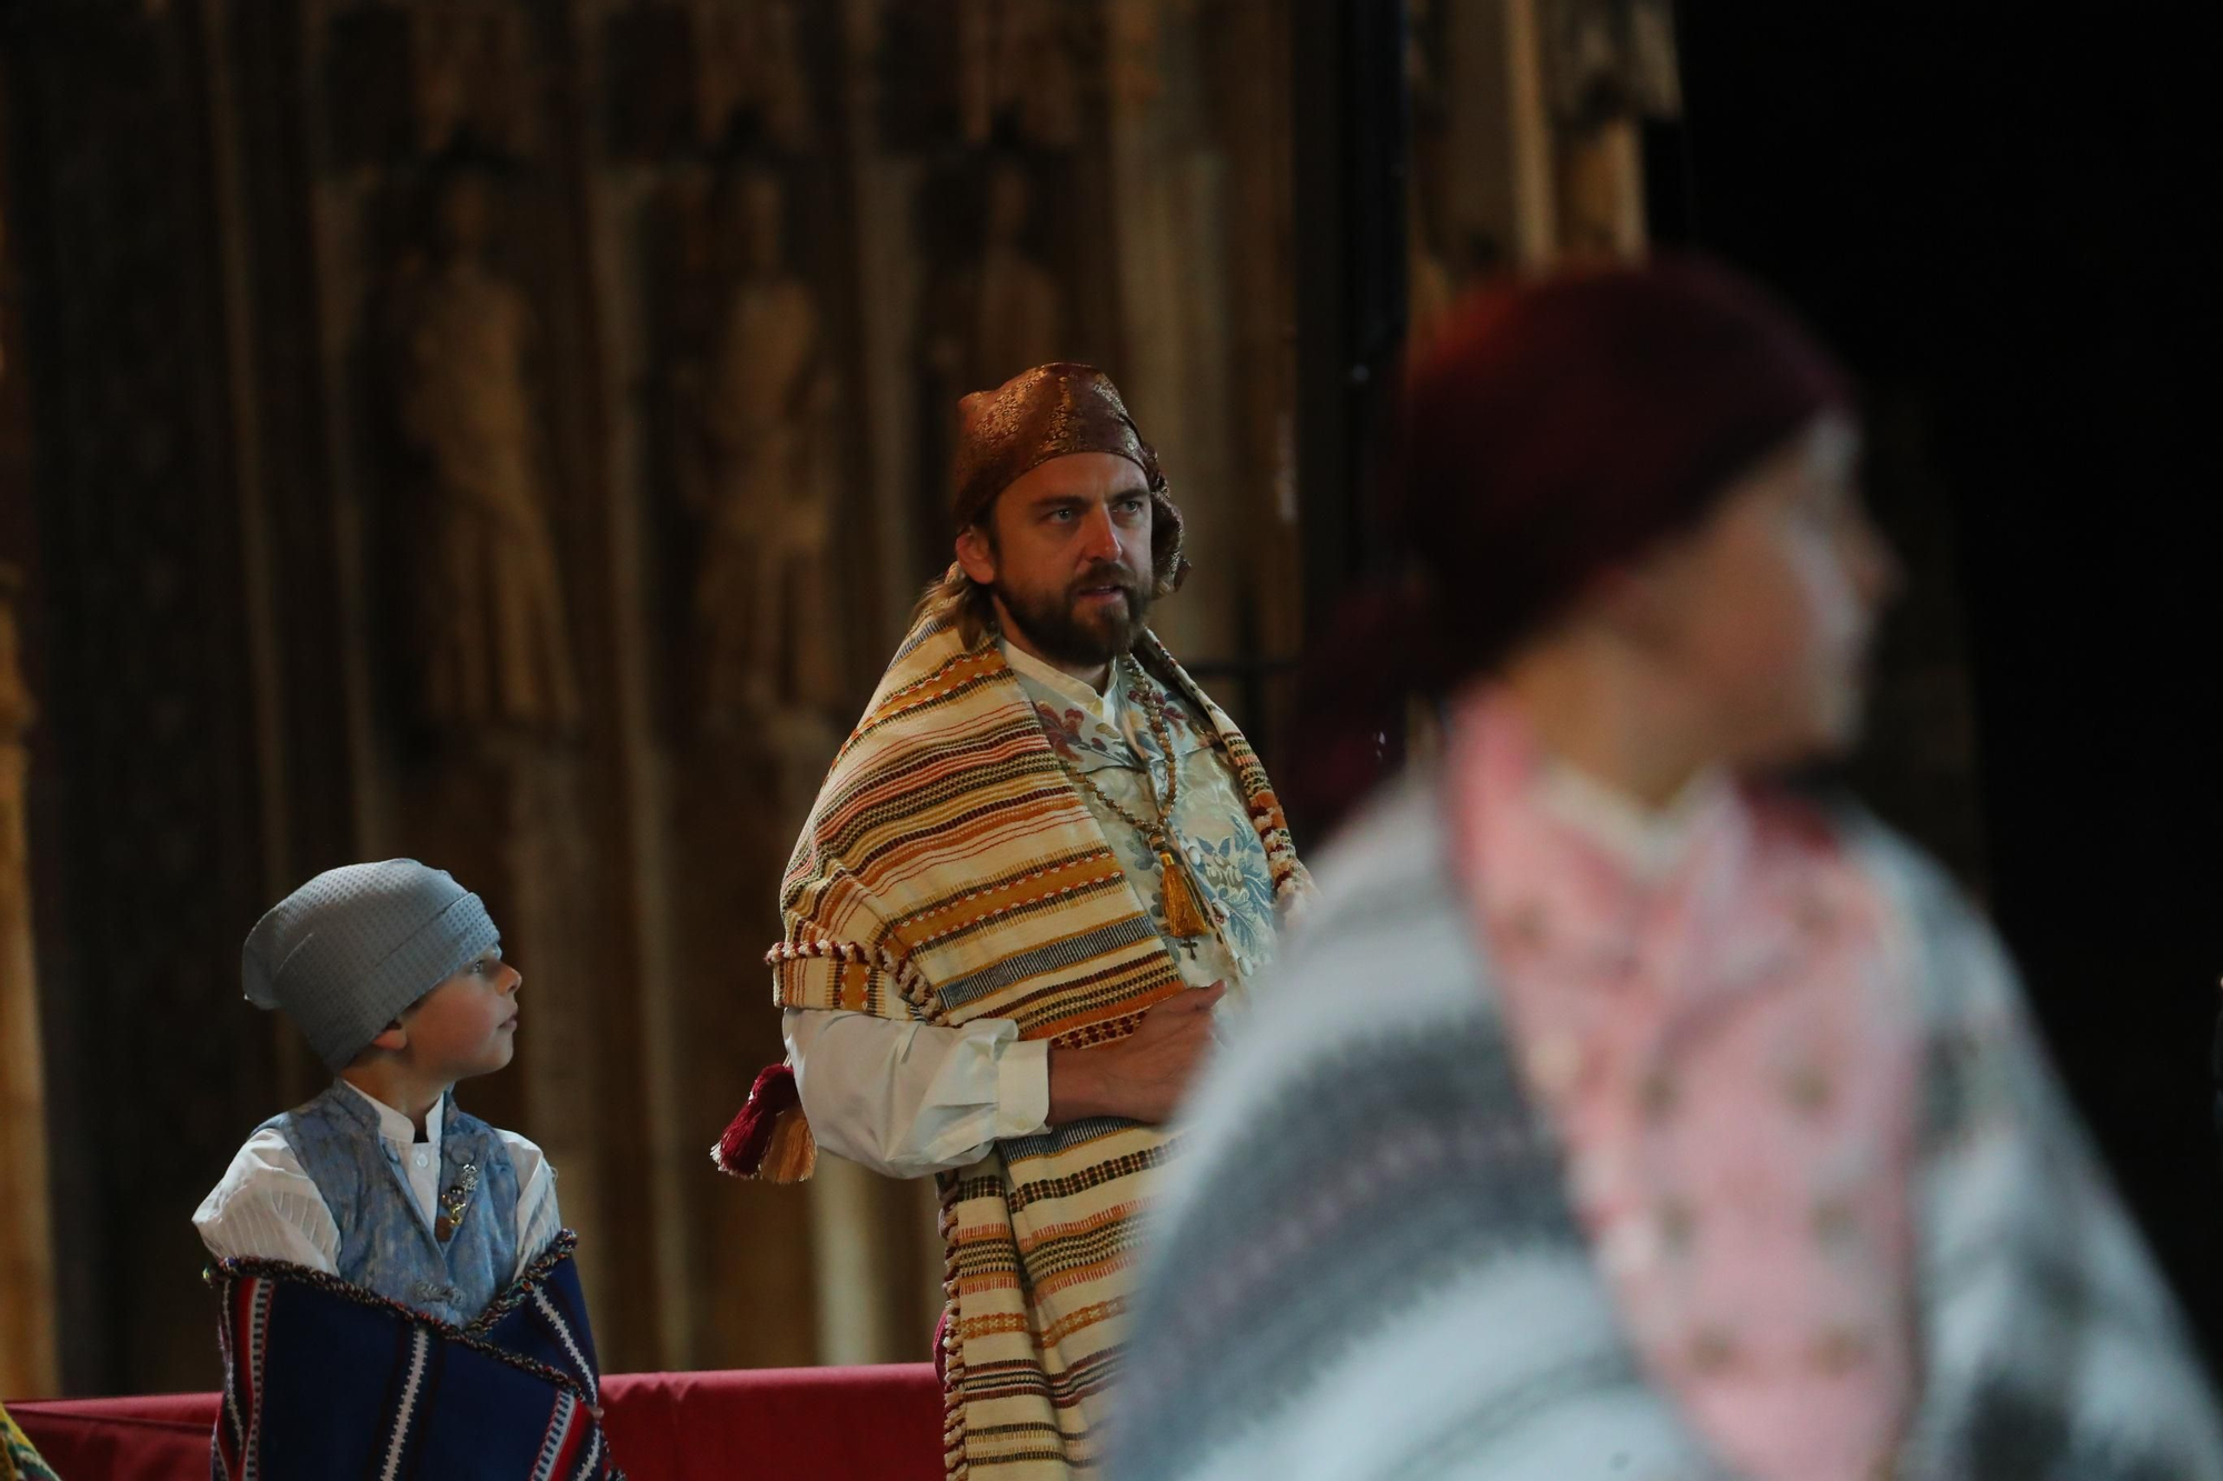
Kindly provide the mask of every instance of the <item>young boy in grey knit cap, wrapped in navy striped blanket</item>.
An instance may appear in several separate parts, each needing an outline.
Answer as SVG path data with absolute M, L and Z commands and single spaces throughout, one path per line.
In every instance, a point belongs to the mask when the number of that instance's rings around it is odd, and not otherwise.
M 522 976 L 487 907 L 413 858 L 327 869 L 242 970 L 336 1079 L 193 1214 L 222 1303 L 218 1477 L 614 1474 L 556 1174 L 456 1110 L 456 1081 L 516 1054 Z

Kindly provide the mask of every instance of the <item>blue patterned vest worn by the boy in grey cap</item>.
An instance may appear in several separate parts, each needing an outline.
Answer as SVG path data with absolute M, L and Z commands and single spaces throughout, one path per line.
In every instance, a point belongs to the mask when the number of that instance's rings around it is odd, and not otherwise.
M 518 1174 L 500 1132 L 456 1110 L 440 1123 L 440 1190 L 478 1167 L 462 1223 L 442 1245 L 409 1192 L 400 1154 L 378 1134 L 378 1112 L 345 1083 L 300 1110 L 265 1121 L 325 1194 L 340 1225 L 340 1279 L 465 1325 L 509 1285 L 518 1265 Z

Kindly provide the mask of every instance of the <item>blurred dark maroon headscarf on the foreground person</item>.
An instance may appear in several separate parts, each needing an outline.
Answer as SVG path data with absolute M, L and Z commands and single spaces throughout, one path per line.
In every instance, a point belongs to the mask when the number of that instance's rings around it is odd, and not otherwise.
M 1360 592 L 1300 680 L 1292 814 L 1338 816 L 1414 692 L 1501 665 L 1603 571 L 1696 529 L 1741 474 L 1850 407 L 1770 294 L 1696 258 L 1483 291 L 1400 402 L 1383 516 L 1398 576 Z

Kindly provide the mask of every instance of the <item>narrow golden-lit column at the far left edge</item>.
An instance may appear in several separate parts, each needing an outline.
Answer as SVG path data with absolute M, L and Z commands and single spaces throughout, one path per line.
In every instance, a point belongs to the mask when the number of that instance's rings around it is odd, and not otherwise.
M 53 1221 L 38 1054 L 24 734 L 38 707 L 16 663 L 16 571 L 0 565 L 0 1392 L 51 1394 Z

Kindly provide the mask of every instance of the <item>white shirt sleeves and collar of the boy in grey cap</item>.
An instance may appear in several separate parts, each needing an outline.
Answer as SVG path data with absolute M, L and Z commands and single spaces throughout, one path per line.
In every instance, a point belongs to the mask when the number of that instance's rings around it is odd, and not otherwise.
M 447 1099 L 442 1096 L 425 1114 L 425 1141 L 418 1141 L 416 1123 L 409 1116 L 347 1081 L 340 1085 L 347 1085 L 349 1094 L 362 1096 L 362 1103 L 378 1112 L 378 1139 L 402 1159 L 409 1192 L 425 1212 L 425 1221 L 433 1221 L 440 1199 L 440 1125 Z M 562 1227 L 562 1216 L 556 1210 L 556 1167 L 540 1147 L 516 1132 L 500 1127 L 496 1132 L 518 1174 L 518 1274 L 522 1274 Z M 333 1223 L 325 1194 L 302 1172 L 300 1159 L 293 1156 L 293 1147 L 276 1127 L 265 1127 L 247 1139 L 247 1145 L 231 1159 L 231 1167 L 193 1210 L 193 1227 L 216 1259 L 291 1261 L 325 1274 L 340 1270 L 340 1225 Z

